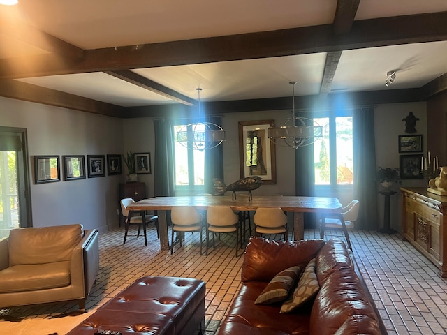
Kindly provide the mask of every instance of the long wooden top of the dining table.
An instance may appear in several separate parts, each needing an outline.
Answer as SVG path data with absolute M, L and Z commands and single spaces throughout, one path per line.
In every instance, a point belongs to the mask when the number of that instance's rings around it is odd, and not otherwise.
M 193 206 L 199 210 L 206 210 L 209 206 L 226 206 L 238 211 L 256 211 L 258 207 L 281 207 L 284 211 L 301 212 L 339 212 L 342 208 L 337 198 L 258 195 L 248 200 L 247 195 L 239 195 L 232 200 L 231 196 L 196 195 L 144 199 L 129 205 L 128 209 L 131 211 L 170 210 L 175 206 Z

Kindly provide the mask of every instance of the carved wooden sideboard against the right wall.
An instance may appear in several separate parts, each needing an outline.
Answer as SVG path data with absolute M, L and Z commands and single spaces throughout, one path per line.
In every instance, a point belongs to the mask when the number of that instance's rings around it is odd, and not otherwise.
M 447 197 L 427 188 L 400 188 L 402 191 L 402 234 L 447 277 Z

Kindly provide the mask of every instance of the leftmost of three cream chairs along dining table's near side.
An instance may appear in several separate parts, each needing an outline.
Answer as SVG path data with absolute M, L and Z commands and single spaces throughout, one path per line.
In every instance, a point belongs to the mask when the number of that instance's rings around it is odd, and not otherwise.
M 174 232 L 179 232 L 178 242 L 182 247 L 182 235 L 185 232 L 200 232 L 200 255 L 202 255 L 203 216 L 192 206 L 175 206 L 170 211 L 171 228 L 170 253 L 174 252 Z

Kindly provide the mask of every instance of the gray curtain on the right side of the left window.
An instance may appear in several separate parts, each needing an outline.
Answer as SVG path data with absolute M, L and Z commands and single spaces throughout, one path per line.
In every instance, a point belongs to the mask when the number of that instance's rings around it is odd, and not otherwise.
M 207 117 L 208 122 L 221 125 L 221 117 Z M 213 178 L 223 179 L 223 145 L 205 150 L 205 193 L 214 194 Z

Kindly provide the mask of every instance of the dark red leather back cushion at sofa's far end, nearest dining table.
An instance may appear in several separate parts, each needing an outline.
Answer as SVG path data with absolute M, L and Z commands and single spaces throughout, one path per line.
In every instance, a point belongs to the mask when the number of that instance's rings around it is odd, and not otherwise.
M 265 281 L 288 267 L 305 268 L 325 244 L 323 239 L 302 241 L 269 241 L 251 237 L 245 250 L 242 282 Z

